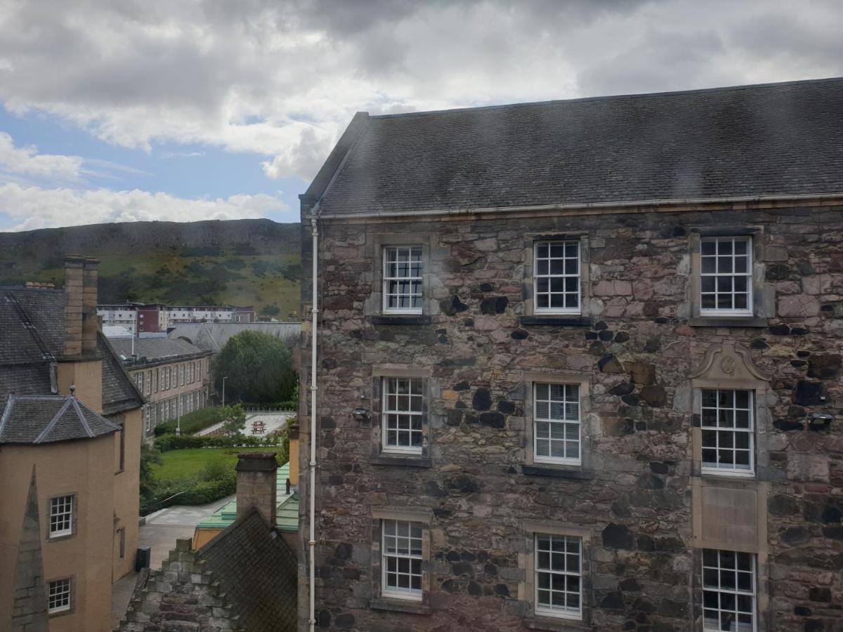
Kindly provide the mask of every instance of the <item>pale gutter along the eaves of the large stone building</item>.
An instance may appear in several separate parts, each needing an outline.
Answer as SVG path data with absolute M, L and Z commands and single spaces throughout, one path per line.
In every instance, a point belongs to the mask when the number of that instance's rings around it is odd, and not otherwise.
M 430 211 L 375 211 L 368 213 L 328 213 L 320 215 L 322 219 L 341 219 L 346 222 L 355 219 L 378 217 L 453 217 L 504 212 L 571 212 L 602 211 L 611 209 L 637 208 L 650 206 L 699 206 L 716 204 L 752 204 L 787 201 L 819 201 L 843 199 L 839 193 L 807 193 L 803 195 L 739 195 L 733 197 L 687 197 L 666 200 L 631 200 L 616 202 L 577 202 L 574 204 L 542 204 L 529 206 L 485 206 L 481 208 L 432 209 Z

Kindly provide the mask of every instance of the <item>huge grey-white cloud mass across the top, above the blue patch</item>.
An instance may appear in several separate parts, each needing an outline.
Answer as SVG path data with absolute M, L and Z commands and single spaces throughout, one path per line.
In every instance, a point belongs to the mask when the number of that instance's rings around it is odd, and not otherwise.
M 841 31 L 837 0 L 5 0 L 0 100 L 308 179 L 357 110 L 827 77 Z

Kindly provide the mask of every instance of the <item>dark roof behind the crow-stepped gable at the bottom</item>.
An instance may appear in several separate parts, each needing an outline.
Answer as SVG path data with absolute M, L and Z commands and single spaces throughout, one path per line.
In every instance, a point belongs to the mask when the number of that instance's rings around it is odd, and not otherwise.
M 250 632 L 296 629 L 295 555 L 254 507 L 199 549 Z

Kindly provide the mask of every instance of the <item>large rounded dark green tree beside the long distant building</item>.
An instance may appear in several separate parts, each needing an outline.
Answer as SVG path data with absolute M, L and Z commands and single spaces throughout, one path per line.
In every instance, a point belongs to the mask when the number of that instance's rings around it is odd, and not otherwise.
M 250 404 L 287 401 L 298 385 L 293 359 L 282 340 L 262 331 L 241 331 L 228 339 L 213 363 L 214 384 L 225 399 Z

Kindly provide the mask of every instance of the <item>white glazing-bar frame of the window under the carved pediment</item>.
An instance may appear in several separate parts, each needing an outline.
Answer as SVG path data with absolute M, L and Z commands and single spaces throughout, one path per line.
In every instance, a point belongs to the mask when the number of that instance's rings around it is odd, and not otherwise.
M 705 405 L 705 394 L 706 391 L 714 393 L 715 397 L 715 406 L 706 406 Z M 728 393 L 731 394 L 732 404 L 729 407 L 721 407 L 720 405 L 720 394 L 721 393 Z M 738 393 L 746 393 L 747 394 L 747 401 L 748 401 L 748 408 L 737 408 L 737 398 Z M 744 388 L 701 388 L 700 389 L 700 466 L 701 471 L 704 474 L 721 474 L 721 475 L 729 475 L 729 476 L 754 476 L 755 475 L 755 415 L 754 415 L 754 404 L 755 404 L 755 394 L 753 391 L 744 389 Z M 715 420 L 714 423 L 717 424 L 715 426 L 706 425 L 706 410 L 714 411 Z M 720 419 L 721 419 L 721 411 L 729 412 L 731 411 L 732 419 L 732 426 L 720 426 Z M 738 428 L 735 424 L 735 417 L 738 414 L 738 411 L 746 411 L 748 418 L 749 418 L 749 427 L 748 428 Z M 706 446 L 706 432 L 714 432 L 715 433 L 715 445 L 714 446 Z M 722 432 L 730 432 L 732 434 L 732 446 L 731 447 L 719 447 L 720 439 Z M 706 450 L 714 449 L 719 454 L 720 450 L 728 450 L 728 452 L 732 453 L 733 463 L 736 460 L 736 456 L 738 452 L 747 452 L 744 448 L 738 448 L 736 446 L 736 440 L 738 438 L 738 433 L 742 435 L 746 435 L 748 437 L 748 444 L 749 444 L 749 469 L 746 468 L 738 468 L 734 464 L 731 467 L 722 467 L 717 463 L 707 462 L 705 460 Z

